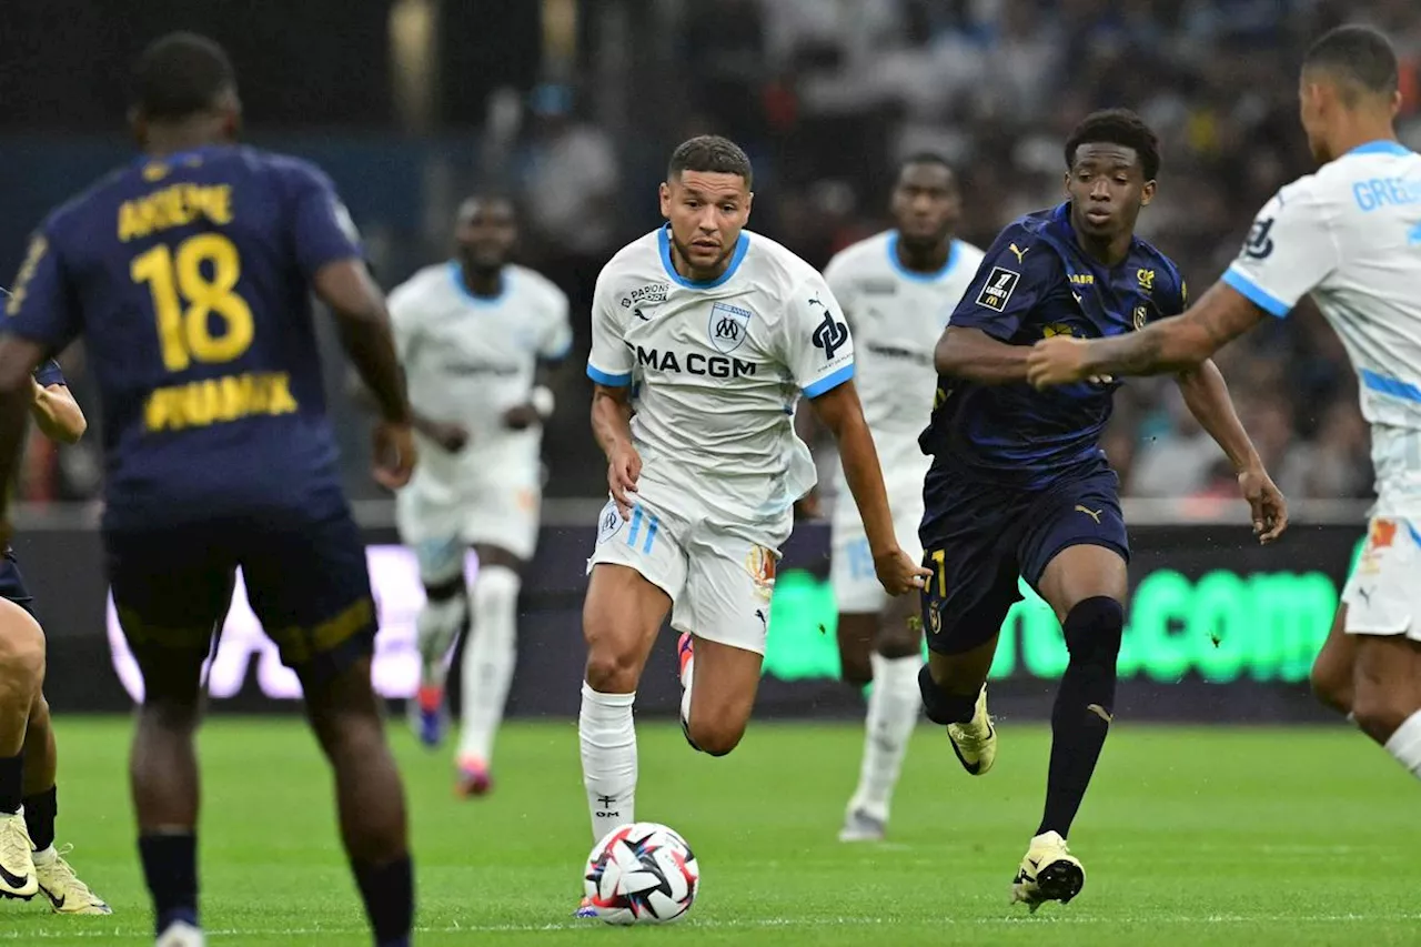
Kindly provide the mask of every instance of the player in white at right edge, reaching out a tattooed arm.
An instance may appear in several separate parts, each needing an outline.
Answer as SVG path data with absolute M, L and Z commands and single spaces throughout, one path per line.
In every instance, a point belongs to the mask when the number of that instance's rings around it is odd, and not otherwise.
M 1299 95 L 1322 166 L 1263 206 L 1223 277 L 1144 331 L 1037 343 L 1029 374 L 1040 387 L 1198 364 L 1312 294 L 1357 370 L 1377 474 L 1368 540 L 1313 688 L 1421 778 L 1421 155 L 1397 142 L 1397 57 L 1376 30 L 1339 27 L 1313 44 Z

